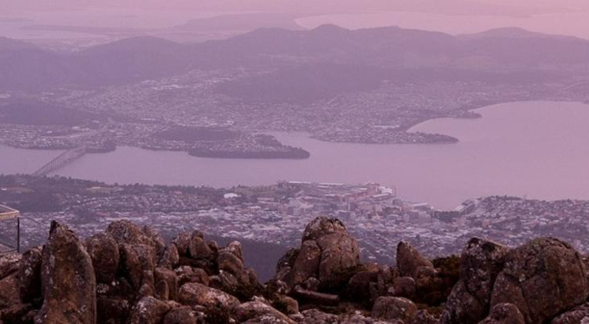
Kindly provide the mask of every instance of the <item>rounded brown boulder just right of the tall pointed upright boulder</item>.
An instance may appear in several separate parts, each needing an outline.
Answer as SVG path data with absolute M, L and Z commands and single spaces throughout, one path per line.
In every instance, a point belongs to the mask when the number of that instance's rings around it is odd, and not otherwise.
M 118 243 L 114 237 L 106 233 L 98 233 L 86 239 L 86 250 L 92 259 L 96 281 L 110 283 L 115 279 L 118 270 Z

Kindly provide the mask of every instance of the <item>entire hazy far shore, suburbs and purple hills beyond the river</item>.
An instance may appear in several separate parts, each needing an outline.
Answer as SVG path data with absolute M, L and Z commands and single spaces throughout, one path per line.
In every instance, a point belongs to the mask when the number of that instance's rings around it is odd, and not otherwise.
M 304 46 L 293 47 L 293 37 Z M 525 51 L 506 45 L 512 37 L 531 42 L 522 46 L 555 52 L 522 58 Z M 329 39 L 329 46 L 317 39 Z M 452 51 L 422 46 L 432 39 Z M 260 29 L 201 44 L 137 37 L 73 56 L 1 41 L 9 59 L 2 62 L 8 77 L 0 82 L 0 143 L 20 148 L 107 152 L 134 146 L 201 157 L 307 158 L 304 147 L 261 134 L 456 143 L 449 135 L 411 128 L 432 118 L 477 118 L 472 110 L 498 103 L 589 101 L 585 42 L 520 29 L 459 38 L 397 27 L 351 31 L 325 25 L 308 31 Z M 558 51 L 561 43 L 575 52 Z M 473 48 L 488 48 L 487 56 Z M 54 66 L 64 71 L 29 76 L 24 67 L 33 62 L 19 51 L 57 59 Z M 124 64 L 127 57 L 137 58 L 136 65 Z

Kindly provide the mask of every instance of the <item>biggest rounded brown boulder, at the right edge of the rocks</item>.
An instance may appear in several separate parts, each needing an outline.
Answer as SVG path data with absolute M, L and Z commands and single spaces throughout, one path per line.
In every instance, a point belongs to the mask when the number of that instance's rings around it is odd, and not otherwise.
M 512 303 L 526 323 L 540 324 L 583 304 L 588 295 L 581 256 L 569 244 L 548 237 L 508 253 L 491 305 Z

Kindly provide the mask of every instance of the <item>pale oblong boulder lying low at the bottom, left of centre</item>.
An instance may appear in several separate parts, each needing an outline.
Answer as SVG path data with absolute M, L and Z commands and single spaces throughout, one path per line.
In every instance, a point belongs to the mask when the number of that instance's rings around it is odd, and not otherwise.
M 200 283 L 186 283 L 182 286 L 178 293 L 178 302 L 188 306 L 202 305 L 227 311 L 239 305 L 239 299 L 236 297 Z

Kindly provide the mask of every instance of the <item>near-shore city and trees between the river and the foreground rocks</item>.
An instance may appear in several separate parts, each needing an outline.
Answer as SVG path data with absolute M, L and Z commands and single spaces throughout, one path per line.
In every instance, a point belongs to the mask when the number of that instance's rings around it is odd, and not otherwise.
M 153 226 L 164 237 L 198 229 L 213 237 L 273 243 L 285 250 L 319 215 L 337 217 L 358 239 L 362 256 L 391 263 L 395 242 L 411 242 L 429 257 L 459 253 L 473 236 L 515 246 L 555 236 L 589 252 L 589 201 L 484 197 L 451 211 L 396 197 L 378 183 L 360 185 L 282 181 L 265 187 L 107 185 L 63 177 L 2 176 L 0 204 L 21 210 L 23 247 L 44 240 L 51 220 L 82 237 L 113 220 Z M 13 232 L 14 233 L 14 232 Z M 276 260 L 263 265 L 272 268 Z

